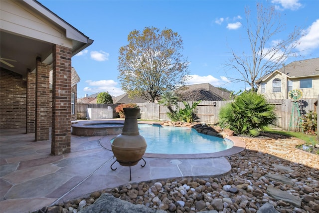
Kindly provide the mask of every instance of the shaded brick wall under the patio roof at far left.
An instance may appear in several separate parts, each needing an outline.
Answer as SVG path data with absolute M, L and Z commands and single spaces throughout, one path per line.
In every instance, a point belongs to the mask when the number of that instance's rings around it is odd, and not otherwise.
M 0 70 L 0 128 L 25 128 L 26 81 L 22 76 Z

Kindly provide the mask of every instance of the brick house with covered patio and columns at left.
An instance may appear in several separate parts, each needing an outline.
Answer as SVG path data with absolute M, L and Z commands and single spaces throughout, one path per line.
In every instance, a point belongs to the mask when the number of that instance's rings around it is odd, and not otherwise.
M 51 140 L 52 155 L 69 153 L 79 81 L 71 58 L 93 40 L 36 0 L 1 0 L 0 21 L 0 128 L 25 128 Z

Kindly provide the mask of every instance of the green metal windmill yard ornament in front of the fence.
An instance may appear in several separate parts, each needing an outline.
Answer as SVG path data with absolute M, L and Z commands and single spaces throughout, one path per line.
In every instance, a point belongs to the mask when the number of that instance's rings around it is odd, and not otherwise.
M 300 89 L 293 89 L 289 92 L 289 97 L 293 99 L 293 105 L 291 108 L 291 116 L 290 116 L 290 123 L 288 131 L 291 130 L 291 128 L 295 127 L 295 131 L 297 128 L 301 128 L 301 113 L 299 107 L 303 105 L 303 102 L 300 101 L 300 98 L 302 97 L 303 92 Z M 295 115 L 297 113 L 297 115 Z M 295 126 L 295 124 L 297 124 Z

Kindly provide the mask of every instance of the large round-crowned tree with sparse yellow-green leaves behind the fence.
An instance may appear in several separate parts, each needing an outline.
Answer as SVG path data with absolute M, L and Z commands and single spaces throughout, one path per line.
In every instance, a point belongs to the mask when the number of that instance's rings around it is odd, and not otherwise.
M 183 43 L 177 32 L 145 27 L 143 32 L 130 32 L 128 42 L 119 51 L 118 79 L 130 97 L 155 102 L 164 91 L 187 80 L 188 62 L 181 54 Z

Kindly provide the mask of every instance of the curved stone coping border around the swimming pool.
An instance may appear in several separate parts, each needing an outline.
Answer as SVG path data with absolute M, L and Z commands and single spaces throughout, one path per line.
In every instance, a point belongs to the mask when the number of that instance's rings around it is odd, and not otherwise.
M 139 122 L 144 124 L 156 124 L 152 122 Z M 181 127 L 182 128 L 182 127 Z M 112 151 L 111 140 L 117 135 L 106 135 L 100 140 L 100 145 L 107 150 Z M 227 137 L 227 140 L 230 140 L 234 143 L 234 146 L 230 149 L 215 152 L 215 153 L 201 153 L 201 154 L 154 154 L 154 153 L 145 153 L 143 157 L 145 158 L 164 158 L 164 159 L 200 159 L 200 158 L 220 158 L 235 155 L 245 150 L 245 142 L 240 140 L 236 136 Z

